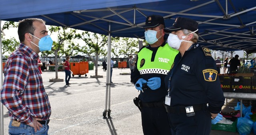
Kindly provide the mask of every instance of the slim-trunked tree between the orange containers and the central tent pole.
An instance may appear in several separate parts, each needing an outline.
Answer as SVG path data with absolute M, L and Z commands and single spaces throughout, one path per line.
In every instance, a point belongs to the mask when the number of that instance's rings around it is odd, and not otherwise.
M 100 49 L 107 45 L 108 37 L 106 35 L 84 31 L 82 34 L 76 34 L 76 38 L 82 39 L 86 46 L 92 49 L 92 51 L 96 54 L 95 76 L 98 76 L 98 55 L 101 53 Z

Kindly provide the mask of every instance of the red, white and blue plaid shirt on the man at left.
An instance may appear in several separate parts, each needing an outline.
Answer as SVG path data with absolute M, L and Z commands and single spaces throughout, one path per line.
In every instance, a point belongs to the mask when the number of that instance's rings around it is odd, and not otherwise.
M 37 65 L 38 55 L 20 44 L 4 66 L 1 102 L 9 110 L 10 119 L 29 124 L 32 117 L 49 119 L 51 107 Z

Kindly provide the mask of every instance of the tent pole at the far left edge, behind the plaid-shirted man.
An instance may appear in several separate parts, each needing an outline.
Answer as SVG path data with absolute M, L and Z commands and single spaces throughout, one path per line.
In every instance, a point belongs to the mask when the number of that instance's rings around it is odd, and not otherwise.
M 0 20 L 0 28 L 1 28 L 1 20 Z M 2 65 L 2 31 L 0 29 L 0 55 L 1 55 L 1 59 L 0 59 L 0 69 L 1 69 L 1 76 L 0 76 L 0 88 L 2 88 L 2 84 L 3 84 L 3 65 Z M 0 103 L 0 135 L 4 135 L 4 108 L 3 108 L 3 104 Z

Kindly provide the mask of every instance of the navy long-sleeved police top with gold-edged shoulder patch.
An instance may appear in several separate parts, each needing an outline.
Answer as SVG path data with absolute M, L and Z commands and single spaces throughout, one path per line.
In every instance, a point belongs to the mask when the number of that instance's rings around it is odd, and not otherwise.
M 174 71 L 172 71 L 174 70 Z M 224 95 L 217 76 L 216 64 L 208 48 L 193 44 L 183 57 L 176 55 L 165 78 L 166 90 L 170 75 L 170 106 L 207 104 L 211 113 L 219 113 Z

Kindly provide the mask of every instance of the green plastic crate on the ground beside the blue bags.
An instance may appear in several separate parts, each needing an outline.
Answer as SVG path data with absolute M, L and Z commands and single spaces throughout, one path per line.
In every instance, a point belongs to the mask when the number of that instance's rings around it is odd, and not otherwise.
M 229 124 L 222 124 L 222 123 L 216 123 L 215 125 L 212 124 L 212 129 L 236 132 L 236 124 L 237 124 L 237 119 L 231 125 L 229 125 Z

